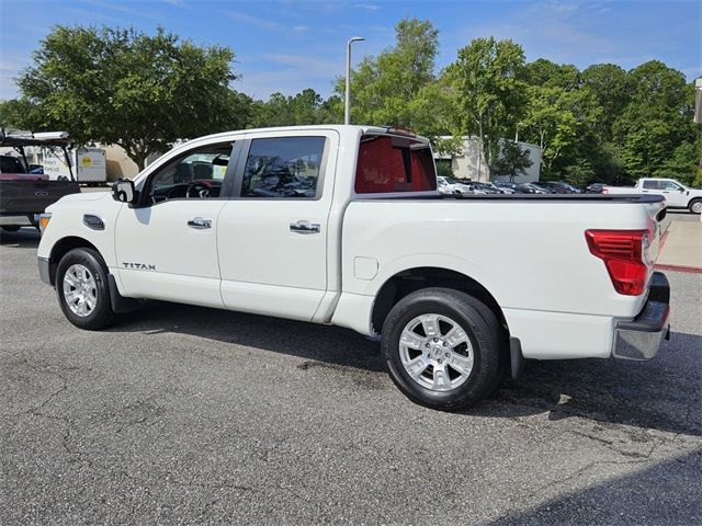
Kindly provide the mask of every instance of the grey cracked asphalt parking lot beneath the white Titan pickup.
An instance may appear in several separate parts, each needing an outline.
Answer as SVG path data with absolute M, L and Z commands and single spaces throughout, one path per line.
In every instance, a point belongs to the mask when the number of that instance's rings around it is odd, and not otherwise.
M 702 524 L 701 274 L 668 273 L 655 361 L 529 363 L 449 414 L 347 330 L 162 302 L 75 329 L 37 242 L 0 243 L 2 525 Z

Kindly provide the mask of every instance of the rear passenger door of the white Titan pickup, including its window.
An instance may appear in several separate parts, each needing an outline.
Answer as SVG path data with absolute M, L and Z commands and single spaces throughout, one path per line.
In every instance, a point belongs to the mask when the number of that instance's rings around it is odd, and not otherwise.
M 246 136 L 217 230 L 225 307 L 313 318 L 327 289 L 338 145 L 333 130 Z

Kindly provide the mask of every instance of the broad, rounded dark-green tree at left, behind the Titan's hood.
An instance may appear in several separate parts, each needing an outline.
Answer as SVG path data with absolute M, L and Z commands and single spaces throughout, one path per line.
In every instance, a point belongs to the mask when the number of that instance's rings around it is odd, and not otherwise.
M 19 124 L 65 129 L 78 144 L 118 145 L 143 168 L 177 139 L 236 121 L 234 52 L 159 28 L 56 26 L 16 80 L 31 111 Z M 235 105 L 233 106 L 233 102 Z

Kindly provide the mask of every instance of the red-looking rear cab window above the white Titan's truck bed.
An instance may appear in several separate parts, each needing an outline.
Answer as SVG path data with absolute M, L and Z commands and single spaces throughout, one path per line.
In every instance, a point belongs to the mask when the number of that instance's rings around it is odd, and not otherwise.
M 437 172 L 429 145 L 388 135 L 364 135 L 359 147 L 355 193 L 437 190 Z

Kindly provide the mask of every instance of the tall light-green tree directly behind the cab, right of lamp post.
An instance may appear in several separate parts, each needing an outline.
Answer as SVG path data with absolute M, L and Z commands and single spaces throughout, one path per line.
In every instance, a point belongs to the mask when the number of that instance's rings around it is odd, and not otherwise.
M 434 80 L 439 32 L 429 21 L 400 20 L 396 44 L 377 57 L 365 57 L 351 75 L 352 118 L 355 123 L 398 126 L 423 133 L 422 106 L 412 107 L 420 91 Z M 343 96 L 344 79 L 336 91 Z

